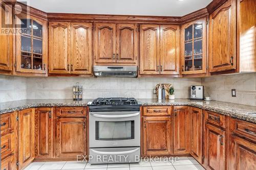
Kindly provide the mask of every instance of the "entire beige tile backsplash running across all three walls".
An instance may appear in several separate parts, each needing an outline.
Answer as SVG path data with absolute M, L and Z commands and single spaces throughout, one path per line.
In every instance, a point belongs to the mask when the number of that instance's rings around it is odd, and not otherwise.
M 72 86 L 83 86 L 83 98 L 126 96 L 155 99 L 158 83 L 175 86 L 177 99 L 189 98 L 191 85 L 203 85 L 213 100 L 256 106 L 256 73 L 209 78 L 24 78 L 0 76 L 0 102 L 23 99 L 72 99 Z M 231 96 L 237 90 L 237 97 Z

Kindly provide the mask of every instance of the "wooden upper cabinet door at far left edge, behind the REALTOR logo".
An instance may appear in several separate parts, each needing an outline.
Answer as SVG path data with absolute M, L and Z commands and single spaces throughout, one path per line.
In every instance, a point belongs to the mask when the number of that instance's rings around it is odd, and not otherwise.
M 12 24 L 12 8 L 5 5 L 3 2 L 0 4 L 0 29 L 10 30 L 11 27 L 7 27 Z M 8 25 L 2 25 L 8 23 Z M 11 71 L 12 70 L 12 57 L 13 57 L 13 35 L 11 32 L 0 34 L 0 70 Z

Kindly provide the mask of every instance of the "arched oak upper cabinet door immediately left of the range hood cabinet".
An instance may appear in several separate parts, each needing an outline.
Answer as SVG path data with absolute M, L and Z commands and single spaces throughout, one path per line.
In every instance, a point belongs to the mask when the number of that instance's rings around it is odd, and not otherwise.
M 71 74 L 92 74 L 92 23 L 71 23 Z

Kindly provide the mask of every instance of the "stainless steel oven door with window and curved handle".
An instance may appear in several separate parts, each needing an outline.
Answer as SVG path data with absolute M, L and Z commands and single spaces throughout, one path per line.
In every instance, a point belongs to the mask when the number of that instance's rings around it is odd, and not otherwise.
M 90 112 L 90 148 L 139 147 L 140 112 Z

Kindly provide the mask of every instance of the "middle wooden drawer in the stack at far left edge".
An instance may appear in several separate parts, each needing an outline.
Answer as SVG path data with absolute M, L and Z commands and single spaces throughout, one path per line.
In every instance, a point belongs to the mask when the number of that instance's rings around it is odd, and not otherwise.
M 14 132 L 1 136 L 1 159 L 13 154 L 15 146 Z

